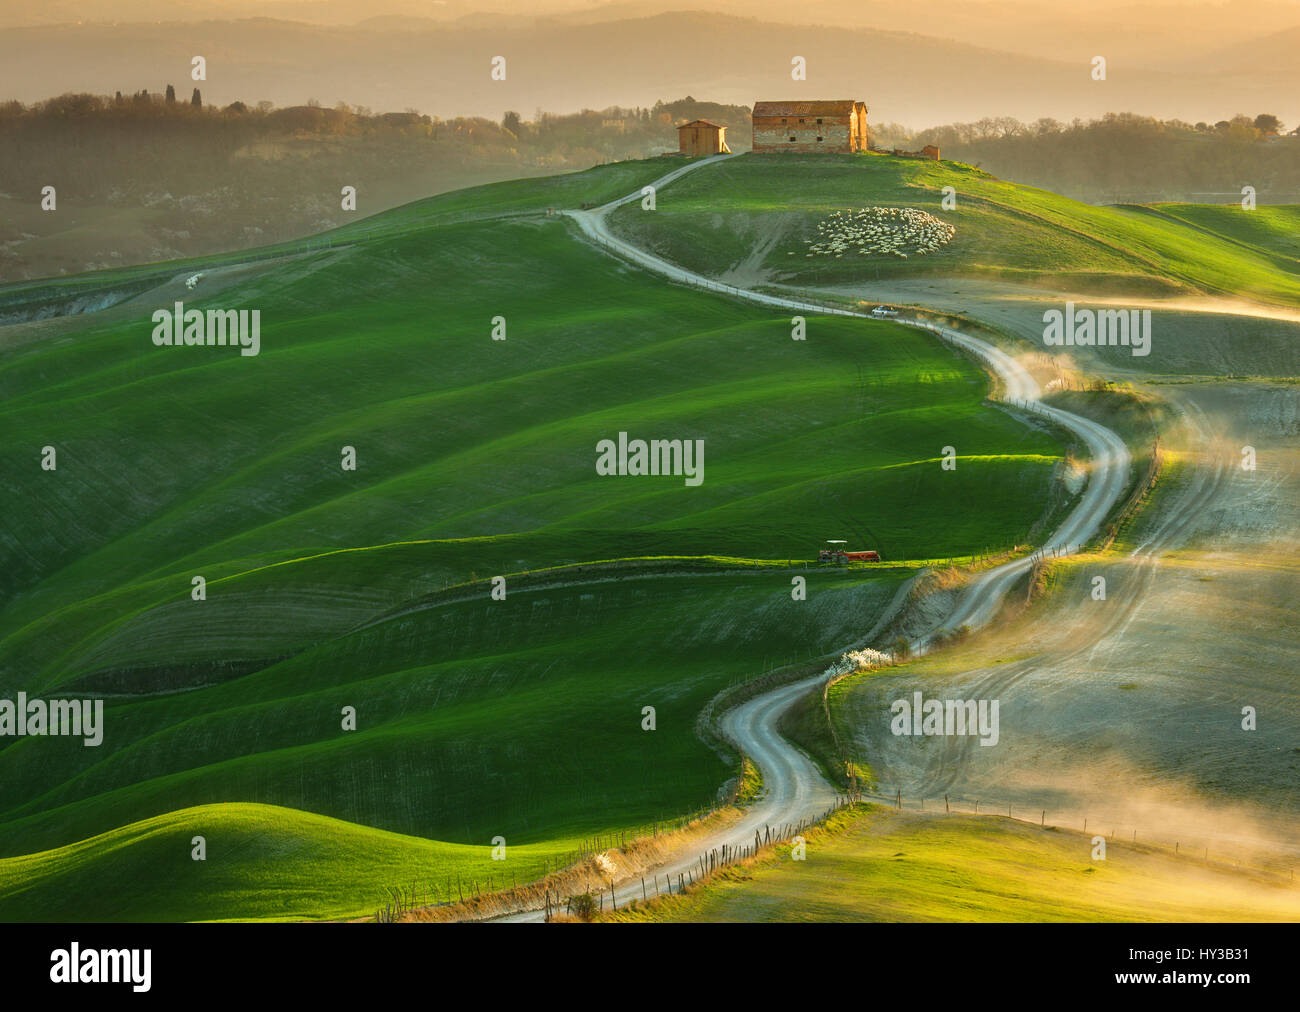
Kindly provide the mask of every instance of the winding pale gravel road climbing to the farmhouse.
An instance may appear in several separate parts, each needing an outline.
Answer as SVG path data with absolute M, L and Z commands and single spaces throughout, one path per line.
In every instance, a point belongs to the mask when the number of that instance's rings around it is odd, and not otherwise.
M 670 172 L 653 183 L 656 199 L 663 187 L 688 172 L 696 172 L 724 161 L 728 157 L 732 156 L 722 155 L 712 159 L 703 159 Z M 718 291 L 719 294 L 745 299 L 759 306 L 820 316 L 832 315 L 870 319 L 867 313 L 848 308 L 828 307 L 798 298 L 771 295 L 734 285 L 720 284 L 668 263 L 612 234 L 606 222 L 607 215 L 614 208 L 641 198 L 642 191 L 637 190 L 592 211 L 567 211 L 566 213 L 575 220 L 582 234 L 593 242 L 646 271 L 662 274 L 672 281 Z M 1119 496 L 1127 485 L 1130 455 L 1123 441 L 1110 429 L 1095 421 L 1041 403 L 1041 390 L 1034 377 L 1015 359 L 993 345 L 948 328 L 905 320 L 898 320 L 897 323 L 931 330 L 939 338 L 978 358 L 1002 381 L 1004 399 L 1008 405 L 1027 414 L 1046 418 L 1070 429 L 1083 440 L 1092 457 L 1086 490 L 1061 527 L 1040 549 L 1040 553 L 1054 552 L 1066 554 L 1078 550 L 1080 545 L 1100 529 L 1105 516 L 1118 502 Z M 941 624 L 949 628 L 962 624 L 976 628 L 988 623 L 996 615 L 1002 596 L 1034 566 L 1036 558 L 1036 555 L 1018 558 L 980 574 L 963 588 L 957 598 L 953 613 Z M 898 602 L 901 602 L 901 596 L 896 598 L 896 604 Z M 883 615 L 878 623 L 878 628 L 883 628 L 890 617 L 888 614 Z M 928 646 L 932 632 L 937 631 L 937 628 L 936 626 L 931 633 L 919 637 L 913 644 L 914 650 L 923 653 Z M 714 849 L 720 851 L 724 846 L 741 847 L 753 844 L 755 832 L 766 832 L 768 826 L 774 831 L 777 831 L 781 826 L 798 823 L 801 819 L 818 818 L 836 803 L 837 792 L 835 787 L 826 780 L 816 765 L 781 736 L 777 730 L 777 725 L 786 710 L 805 693 L 820 686 L 826 678 L 826 674 L 820 674 L 783 686 L 723 714 L 723 732 L 762 771 L 763 793 L 746 810 L 745 817 L 740 822 L 706 839 L 696 840 L 690 844 L 689 851 L 654 869 L 658 874 L 667 874 L 675 881 L 677 874 L 684 874 L 688 869 L 697 868 L 701 853 Z M 619 904 L 640 898 L 640 879 L 630 879 L 621 885 L 615 883 L 615 895 Z M 541 911 L 524 911 L 498 920 L 540 921 L 542 917 Z

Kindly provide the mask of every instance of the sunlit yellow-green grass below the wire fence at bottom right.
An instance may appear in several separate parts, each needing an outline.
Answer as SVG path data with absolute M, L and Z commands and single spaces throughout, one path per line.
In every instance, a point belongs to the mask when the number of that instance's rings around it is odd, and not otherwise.
M 1164 849 L 1001 817 L 922 816 L 875 805 L 835 813 L 789 844 L 685 895 L 606 914 L 672 921 L 1295 921 L 1300 890 Z

